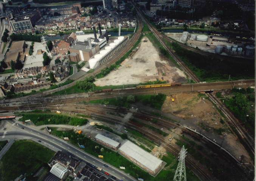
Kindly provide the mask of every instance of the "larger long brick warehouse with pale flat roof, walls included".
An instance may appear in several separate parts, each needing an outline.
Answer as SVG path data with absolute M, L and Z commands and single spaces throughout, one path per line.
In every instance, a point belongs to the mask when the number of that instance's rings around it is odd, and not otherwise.
M 163 168 L 162 160 L 128 140 L 119 148 L 119 153 L 137 164 L 143 170 L 149 172 L 151 175 L 157 175 Z

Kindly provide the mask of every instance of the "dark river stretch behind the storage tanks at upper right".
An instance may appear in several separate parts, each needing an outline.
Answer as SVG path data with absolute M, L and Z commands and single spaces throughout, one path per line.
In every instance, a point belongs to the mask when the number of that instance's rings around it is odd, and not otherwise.
M 183 29 L 165 29 L 163 32 L 165 33 L 182 33 L 184 30 Z M 199 31 L 199 30 L 187 30 L 189 33 L 199 33 L 199 34 L 210 34 L 209 31 Z M 240 38 L 251 38 L 254 36 L 252 35 L 241 35 L 241 34 L 235 34 L 235 33 L 222 33 L 222 32 L 214 32 L 214 34 L 222 35 L 223 37 L 230 37 L 230 38 L 235 38 L 235 37 L 240 37 Z

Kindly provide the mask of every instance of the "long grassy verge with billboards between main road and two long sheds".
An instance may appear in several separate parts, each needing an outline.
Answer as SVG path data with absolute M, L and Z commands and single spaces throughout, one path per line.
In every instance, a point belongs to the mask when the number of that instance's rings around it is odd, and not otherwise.
M 76 146 L 78 146 L 77 144 L 78 142 L 80 145 L 84 145 L 85 148 L 83 150 L 95 157 L 98 157 L 98 155 L 103 155 L 104 158 L 102 160 L 111 164 L 112 166 L 118 169 L 119 169 L 119 166 L 125 167 L 126 169 L 124 170 L 124 172 L 129 173 L 129 175 L 133 176 L 134 178 L 139 177 L 147 181 L 158 181 L 158 180 L 166 180 L 166 178 L 174 177 L 175 169 L 177 168 L 177 164 L 178 164 L 174 156 L 168 155 L 166 157 L 163 157 L 165 161 L 168 161 L 168 163 L 172 163 L 172 165 L 170 165 L 168 170 L 162 170 L 156 177 L 153 177 L 149 175 L 149 173 L 142 170 L 137 165 L 133 164 L 132 162 L 130 162 L 129 160 L 121 156 L 119 153 L 114 152 L 113 150 L 110 150 L 102 146 L 101 144 L 98 144 L 84 137 L 84 135 L 79 135 L 78 133 L 74 133 L 72 130 L 63 132 L 63 131 L 58 131 L 57 128 L 55 127 L 50 129 L 52 130 L 51 133 L 53 135 L 56 135 L 57 137 L 60 137 L 60 138 L 62 138 L 62 135 L 64 137 L 68 137 L 69 142 Z M 190 171 L 188 171 L 187 173 L 187 178 L 193 181 L 199 180 Z

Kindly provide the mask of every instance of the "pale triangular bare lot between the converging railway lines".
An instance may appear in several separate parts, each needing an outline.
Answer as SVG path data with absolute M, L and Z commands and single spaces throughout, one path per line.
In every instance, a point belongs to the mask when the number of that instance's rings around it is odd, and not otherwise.
M 128 67 L 130 66 L 130 67 Z M 166 73 L 166 76 L 162 76 Z M 96 80 L 97 86 L 138 84 L 156 79 L 166 80 L 167 83 L 186 82 L 185 74 L 177 67 L 170 66 L 165 57 L 159 55 L 153 44 L 144 37 L 133 57 L 121 63 L 118 70 L 110 72 L 104 78 Z

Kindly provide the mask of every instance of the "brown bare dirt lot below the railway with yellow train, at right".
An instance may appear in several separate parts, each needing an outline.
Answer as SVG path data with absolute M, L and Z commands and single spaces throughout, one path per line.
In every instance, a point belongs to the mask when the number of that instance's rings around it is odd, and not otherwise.
M 227 149 L 237 160 L 243 156 L 247 163 L 253 163 L 245 150 L 244 146 L 240 143 L 239 138 L 233 133 L 227 120 L 220 115 L 216 107 L 206 100 L 200 98 L 198 93 L 183 93 L 167 96 L 161 108 L 163 112 L 169 112 L 177 117 L 180 117 L 180 123 L 184 126 L 191 127 L 209 137 L 211 140 L 217 140 L 217 143 L 223 141 L 223 147 Z M 222 120 L 222 121 L 221 121 Z M 216 130 L 223 129 L 222 133 L 218 134 Z M 180 132 L 177 132 L 180 134 Z

